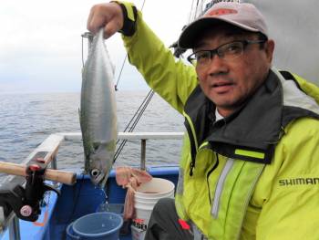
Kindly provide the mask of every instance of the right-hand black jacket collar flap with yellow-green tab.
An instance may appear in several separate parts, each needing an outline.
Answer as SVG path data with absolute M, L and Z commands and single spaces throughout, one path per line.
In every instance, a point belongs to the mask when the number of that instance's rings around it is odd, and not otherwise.
M 270 163 L 282 131 L 283 89 L 273 71 L 245 105 L 214 124 L 207 141 L 234 159 Z

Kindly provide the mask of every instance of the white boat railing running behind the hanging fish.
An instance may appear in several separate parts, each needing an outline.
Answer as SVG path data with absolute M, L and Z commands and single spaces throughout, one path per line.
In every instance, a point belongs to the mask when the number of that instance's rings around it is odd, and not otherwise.
M 140 141 L 140 168 L 146 169 L 146 143 L 148 140 L 180 140 L 183 132 L 118 132 L 118 140 Z M 52 169 L 57 169 L 57 151 L 63 141 L 81 141 L 80 132 L 58 132 L 49 135 L 34 151 L 32 151 L 22 165 L 28 165 L 35 158 L 41 157 L 50 162 Z M 0 183 L 0 191 L 5 189 L 8 183 L 18 183 L 24 185 L 26 178 L 17 175 L 8 175 Z M 9 231 L 9 239 L 19 240 L 20 227 L 19 220 L 14 212 L 5 215 L 5 210 L 0 206 L 0 238 L 5 231 Z

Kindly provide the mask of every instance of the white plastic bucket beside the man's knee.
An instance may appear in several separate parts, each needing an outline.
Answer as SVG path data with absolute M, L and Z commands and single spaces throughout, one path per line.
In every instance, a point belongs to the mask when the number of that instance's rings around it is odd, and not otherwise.
M 174 183 L 162 178 L 152 178 L 149 183 L 143 183 L 139 186 L 134 194 L 134 207 L 136 211 L 136 219 L 133 219 L 136 237 L 134 240 L 143 240 L 145 232 L 149 224 L 149 217 L 153 211 L 154 205 L 161 198 L 174 198 Z M 139 235 L 139 237 L 137 237 Z

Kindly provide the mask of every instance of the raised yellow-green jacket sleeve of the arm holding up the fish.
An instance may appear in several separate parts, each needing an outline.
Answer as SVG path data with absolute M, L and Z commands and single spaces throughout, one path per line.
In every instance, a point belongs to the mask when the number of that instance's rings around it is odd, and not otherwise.
M 129 63 L 138 68 L 151 89 L 181 113 L 190 92 L 198 84 L 194 68 L 173 57 L 139 11 L 136 24 L 132 37 L 122 36 Z

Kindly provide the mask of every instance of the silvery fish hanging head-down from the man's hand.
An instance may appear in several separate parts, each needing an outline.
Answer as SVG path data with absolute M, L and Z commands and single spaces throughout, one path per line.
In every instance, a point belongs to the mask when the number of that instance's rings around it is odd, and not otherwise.
M 93 37 L 82 69 L 79 110 L 85 172 L 102 189 L 114 163 L 118 139 L 114 65 L 104 41 L 100 29 Z

